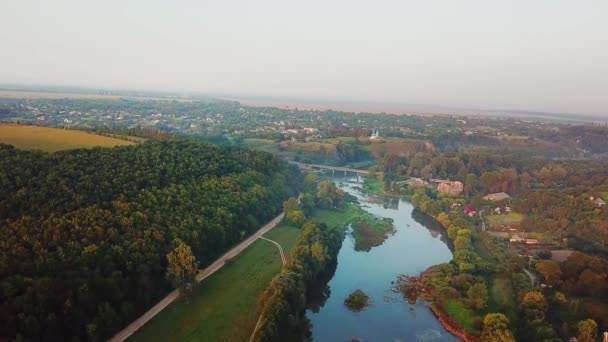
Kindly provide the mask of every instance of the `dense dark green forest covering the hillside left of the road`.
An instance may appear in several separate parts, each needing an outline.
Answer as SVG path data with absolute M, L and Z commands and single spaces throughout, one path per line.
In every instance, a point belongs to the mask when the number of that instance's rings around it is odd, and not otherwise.
M 0 339 L 108 337 L 171 288 L 176 244 L 204 267 L 278 214 L 299 179 L 270 154 L 196 142 L 0 145 Z

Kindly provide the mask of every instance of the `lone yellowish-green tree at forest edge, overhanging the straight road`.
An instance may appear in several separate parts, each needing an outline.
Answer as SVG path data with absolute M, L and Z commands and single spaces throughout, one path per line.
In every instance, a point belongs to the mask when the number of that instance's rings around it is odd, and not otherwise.
M 173 241 L 175 249 L 167 254 L 167 279 L 175 287 L 185 288 L 194 281 L 198 272 L 198 262 L 190 246 L 182 240 Z

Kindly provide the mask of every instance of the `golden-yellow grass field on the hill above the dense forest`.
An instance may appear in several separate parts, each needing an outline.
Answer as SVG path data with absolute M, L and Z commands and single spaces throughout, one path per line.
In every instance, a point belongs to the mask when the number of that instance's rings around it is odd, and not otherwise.
M 0 143 L 24 150 L 55 152 L 75 148 L 114 147 L 135 142 L 83 131 L 40 126 L 0 124 Z

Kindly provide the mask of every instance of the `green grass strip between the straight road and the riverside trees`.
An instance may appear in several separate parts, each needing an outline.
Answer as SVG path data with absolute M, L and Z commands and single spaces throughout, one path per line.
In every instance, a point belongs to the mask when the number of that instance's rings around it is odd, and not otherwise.
M 300 230 L 280 225 L 264 236 L 289 253 Z M 131 341 L 246 341 L 257 322 L 256 304 L 281 270 L 275 245 L 258 240 L 145 325 Z

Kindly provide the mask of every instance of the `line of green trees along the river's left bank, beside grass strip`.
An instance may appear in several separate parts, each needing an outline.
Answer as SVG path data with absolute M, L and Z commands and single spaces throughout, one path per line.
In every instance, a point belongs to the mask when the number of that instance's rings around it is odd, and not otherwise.
M 316 208 L 336 209 L 345 204 L 345 193 L 329 180 L 319 183 L 308 174 L 303 194 L 285 201 L 285 221 L 300 227 L 289 263 L 276 275 L 258 301 L 260 323 L 253 340 L 305 341 L 310 338 L 306 310 L 323 301 L 323 290 L 335 270 L 344 231 L 325 223 L 307 221 Z M 342 227 L 340 227 L 342 228 Z

